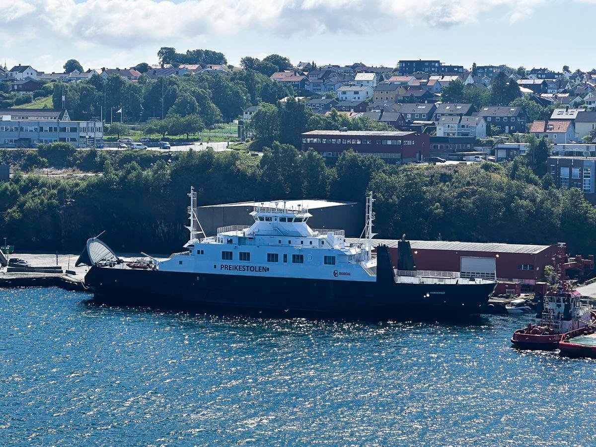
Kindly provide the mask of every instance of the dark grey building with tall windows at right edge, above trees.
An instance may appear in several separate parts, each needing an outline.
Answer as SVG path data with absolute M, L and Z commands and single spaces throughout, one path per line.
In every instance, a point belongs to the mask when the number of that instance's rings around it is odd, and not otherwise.
M 558 188 L 578 188 L 586 200 L 596 204 L 595 157 L 548 157 L 547 164 Z

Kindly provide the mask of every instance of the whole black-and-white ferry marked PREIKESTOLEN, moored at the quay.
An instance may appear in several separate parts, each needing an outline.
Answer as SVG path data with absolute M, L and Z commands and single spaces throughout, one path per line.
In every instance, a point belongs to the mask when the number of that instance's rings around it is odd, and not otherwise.
M 496 281 L 462 278 L 459 272 L 399 271 L 389 250 L 373 252 L 373 195 L 357 243 L 343 230 L 312 229 L 311 213 L 254 206 L 250 226 L 225 226 L 207 236 L 190 194 L 190 239 L 184 251 L 138 268 L 91 238 L 77 260 L 90 265 L 85 285 L 95 299 L 118 304 L 184 305 L 273 311 L 403 316 L 480 313 Z M 409 246 L 407 241 L 404 244 Z

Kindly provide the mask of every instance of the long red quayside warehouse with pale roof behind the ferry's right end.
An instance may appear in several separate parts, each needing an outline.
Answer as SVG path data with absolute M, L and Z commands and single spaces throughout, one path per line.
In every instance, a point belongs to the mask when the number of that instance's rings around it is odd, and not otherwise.
M 350 240 L 351 241 L 351 240 Z M 375 246 L 389 247 L 393 266 L 399 262 L 398 240 L 375 239 Z M 555 245 L 473 243 L 452 241 L 409 241 L 417 270 L 461 272 L 463 258 L 495 260 L 496 279 L 519 283 L 523 291 L 533 291 L 544 279 L 544 268 L 554 264 L 559 252 Z M 568 257 L 564 264 L 567 274 L 582 277 L 594 269 L 594 256 L 583 259 Z

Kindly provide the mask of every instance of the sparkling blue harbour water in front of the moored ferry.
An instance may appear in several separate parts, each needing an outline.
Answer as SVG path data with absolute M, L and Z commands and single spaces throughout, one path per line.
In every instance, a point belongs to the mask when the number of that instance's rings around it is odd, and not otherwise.
M 465 324 L 263 319 L 0 290 L 0 445 L 596 445 L 596 363 Z

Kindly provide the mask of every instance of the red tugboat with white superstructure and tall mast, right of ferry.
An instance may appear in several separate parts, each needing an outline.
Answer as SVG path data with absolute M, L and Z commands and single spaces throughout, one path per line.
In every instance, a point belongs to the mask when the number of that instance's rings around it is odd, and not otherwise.
M 511 343 L 519 349 L 553 350 L 559 347 L 563 336 L 571 331 L 583 330 L 596 324 L 596 314 L 582 305 L 581 294 L 572 281 L 567 280 L 564 269 L 565 244 L 558 244 L 555 270 L 560 275 L 558 283 L 549 290 L 536 307 L 536 322 L 518 329 Z

